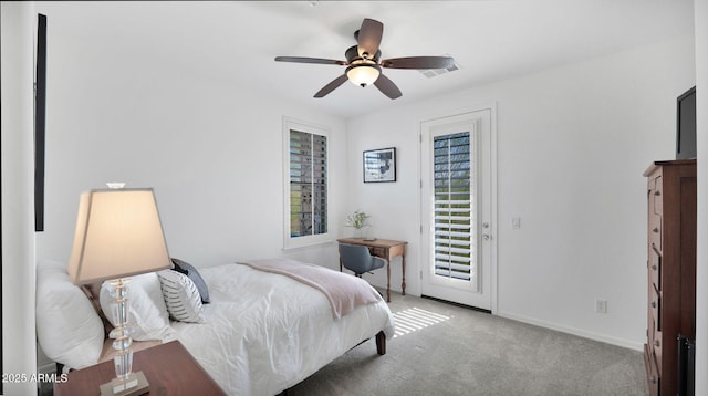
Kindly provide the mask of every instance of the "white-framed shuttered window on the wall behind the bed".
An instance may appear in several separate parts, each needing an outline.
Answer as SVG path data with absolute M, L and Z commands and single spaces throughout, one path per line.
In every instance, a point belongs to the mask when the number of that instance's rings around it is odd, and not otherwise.
M 285 133 L 285 248 L 329 238 L 327 132 L 284 121 Z

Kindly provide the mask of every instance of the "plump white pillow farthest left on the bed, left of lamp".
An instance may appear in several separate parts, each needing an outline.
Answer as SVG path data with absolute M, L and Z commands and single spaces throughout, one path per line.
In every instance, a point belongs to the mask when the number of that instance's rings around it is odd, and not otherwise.
M 71 368 L 98 362 L 103 324 L 66 265 L 43 261 L 37 268 L 37 337 L 46 357 Z

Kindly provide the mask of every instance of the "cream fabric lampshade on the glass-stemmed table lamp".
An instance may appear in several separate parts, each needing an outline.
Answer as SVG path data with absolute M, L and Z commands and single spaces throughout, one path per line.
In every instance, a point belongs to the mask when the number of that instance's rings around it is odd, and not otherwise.
M 69 274 L 74 284 L 170 268 L 152 188 L 81 195 Z

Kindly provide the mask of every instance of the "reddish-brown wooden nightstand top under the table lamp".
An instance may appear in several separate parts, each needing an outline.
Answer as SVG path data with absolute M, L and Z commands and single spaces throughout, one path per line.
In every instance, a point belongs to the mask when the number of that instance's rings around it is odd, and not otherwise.
M 133 372 L 150 384 L 146 395 L 226 395 L 179 341 L 133 353 Z M 115 377 L 113 361 L 69 373 L 54 384 L 54 395 L 98 395 L 101 384 Z

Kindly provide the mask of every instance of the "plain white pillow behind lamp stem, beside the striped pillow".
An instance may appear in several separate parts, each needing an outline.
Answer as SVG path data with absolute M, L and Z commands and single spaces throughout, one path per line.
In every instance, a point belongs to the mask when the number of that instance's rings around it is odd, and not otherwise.
M 163 300 L 159 279 L 155 272 L 128 278 L 128 326 L 131 337 L 137 341 L 165 340 L 173 332 L 169 326 L 167 308 Z M 101 286 L 101 309 L 106 319 L 115 326 L 113 315 L 113 298 L 111 282 L 103 282 Z

